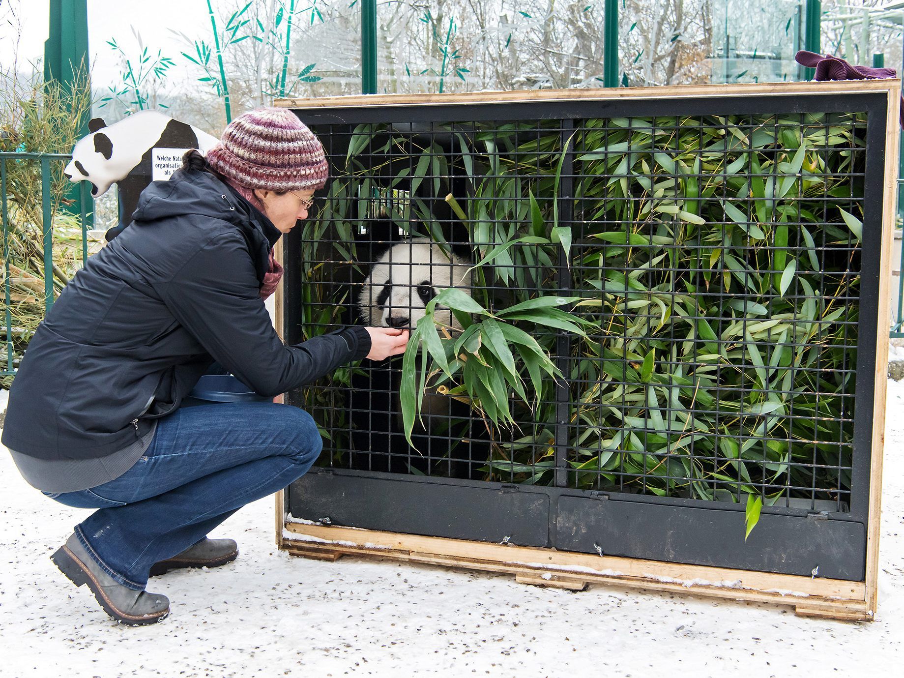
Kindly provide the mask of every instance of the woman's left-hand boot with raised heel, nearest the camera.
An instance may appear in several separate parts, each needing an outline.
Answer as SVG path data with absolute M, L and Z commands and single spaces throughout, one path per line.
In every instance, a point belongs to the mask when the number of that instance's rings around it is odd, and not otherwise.
M 100 607 L 120 624 L 154 624 L 169 614 L 169 598 L 129 589 L 109 577 L 88 555 L 74 533 L 51 560 L 76 586 L 88 584 Z

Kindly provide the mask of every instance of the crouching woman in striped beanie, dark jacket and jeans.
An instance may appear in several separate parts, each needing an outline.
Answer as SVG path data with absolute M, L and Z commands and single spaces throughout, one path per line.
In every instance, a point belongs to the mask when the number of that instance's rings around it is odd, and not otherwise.
M 405 350 L 396 329 L 285 345 L 270 324 L 264 298 L 282 272 L 273 247 L 326 178 L 323 146 L 296 116 L 236 118 L 206 159 L 191 152 L 146 188 L 132 224 L 63 289 L 24 355 L 3 444 L 43 494 L 97 509 L 52 560 L 119 622 L 168 614 L 148 576 L 234 560 L 236 542 L 208 532 L 304 475 L 323 445 L 295 407 L 180 408 L 214 361 L 273 396 Z

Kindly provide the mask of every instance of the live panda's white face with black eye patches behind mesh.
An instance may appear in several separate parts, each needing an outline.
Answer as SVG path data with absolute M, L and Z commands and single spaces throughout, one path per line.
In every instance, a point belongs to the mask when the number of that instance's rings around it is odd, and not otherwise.
M 469 294 L 468 268 L 465 261 L 455 255 L 450 260 L 426 239 L 393 246 L 364 281 L 359 299 L 363 321 L 372 327 L 415 327 L 426 315 L 429 301 L 443 289 L 460 287 Z M 434 317 L 441 325 L 461 329 L 445 306 L 437 306 Z

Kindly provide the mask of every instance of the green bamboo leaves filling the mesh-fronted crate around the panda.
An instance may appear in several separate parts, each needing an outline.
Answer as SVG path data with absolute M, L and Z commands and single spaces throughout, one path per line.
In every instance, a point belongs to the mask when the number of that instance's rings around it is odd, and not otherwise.
M 448 126 L 450 152 L 359 126 L 311 228 L 352 242 L 384 205 L 443 242 L 422 184 L 466 226 L 475 288 L 436 300 L 465 333 L 428 315 L 413 334 L 409 429 L 431 384 L 485 419 L 487 479 L 549 485 L 562 449 L 569 486 L 747 503 L 750 528 L 762 504 L 850 490 L 864 128 L 858 114 L 479 123 Z

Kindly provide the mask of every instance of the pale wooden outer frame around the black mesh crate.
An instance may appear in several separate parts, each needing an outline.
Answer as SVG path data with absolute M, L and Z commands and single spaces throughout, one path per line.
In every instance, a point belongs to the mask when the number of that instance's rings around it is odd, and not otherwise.
M 884 93 L 888 98 L 884 158 L 883 211 L 880 249 L 879 310 L 874 376 L 874 419 L 871 435 L 871 482 L 867 525 L 866 575 L 864 581 L 816 579 L 795 575 L 730 570 L 659 560 L 558 551 L 485 541 L 462 541 L 398 532 L 379 532 L 354 527 L 293 521 L 288 514 L 288 494 L 276 495 L 276 543 L 293 555 L 318 560 L 336 560 L 359 555 L 391 560 L 421 562 L 452 568 L 466 568 L 513 574 L 515 580 L 562 589 L 585 589 L 588 583 L 628 588 L 692 593 L 713 598 L 729 598 L 791 605 L 803 617 L 824 617 L 848 621 L 869 621 L 878 607 L 881 472 L 884 451 L 886 374 L 890 306 L 891 247 L 897 202 L 899 155 L 899 80 L 843 80 L 837 82 L 761 83 L 743 85 L 694 85 L 632 89 L 545 89 L 464 94 L 363 95 L 323 99 L 278 99 L 286 108 L 384 107 L 412 104 L 481 104 L 524 101 L 592 99 L 709 98 L 716 96 L 781 96 L 842 93 Z M 277 249 L 282 263 L 283 252 Z M 276 292 L 276 325 L 283 334 L 283 291 Z

